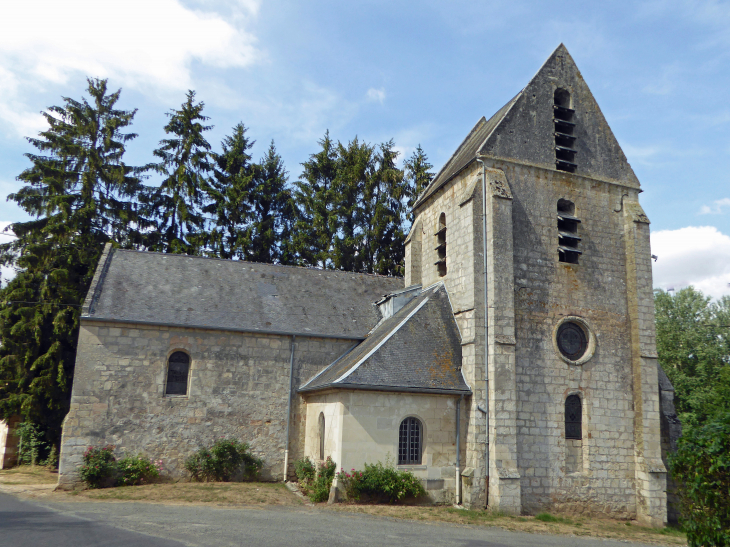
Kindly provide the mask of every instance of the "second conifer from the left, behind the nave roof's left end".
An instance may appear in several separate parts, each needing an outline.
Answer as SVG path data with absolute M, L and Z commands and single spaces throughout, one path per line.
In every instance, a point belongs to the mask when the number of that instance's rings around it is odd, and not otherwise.
M 151 250 L 165 253 L 200 254 L 205 244 L 205 190 L 212 169 L 210 144 L 204 133 L 203 102 L 195 103 L 195 91 L 188 91 L 179 110 L 167 113 L 169 138 L 160 141 L 153 153 L 160 158 L 156 170 L 164 177 L 152 193 L 149 206 L 156 215 L 157 230 L 149 234 Z

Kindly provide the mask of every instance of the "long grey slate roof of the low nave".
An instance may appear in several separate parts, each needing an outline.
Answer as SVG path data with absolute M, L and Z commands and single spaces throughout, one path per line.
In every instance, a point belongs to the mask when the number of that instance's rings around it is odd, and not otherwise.
M 109 250 L 86 320 L 362 340 L 397 277 L 140 251 Z

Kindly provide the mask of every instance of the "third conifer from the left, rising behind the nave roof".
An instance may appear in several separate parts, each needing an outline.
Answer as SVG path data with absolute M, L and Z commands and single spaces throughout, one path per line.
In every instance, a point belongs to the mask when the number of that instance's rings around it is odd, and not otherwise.
M 255 185 L 249 150 L 254 141 L 246 136 L 243 123 L 221 142 L 222 153 L 213 153 L 213 178 L 207 187 L 213 227 L 208 236 L 209 252 L 220 258 L 243 258 L 251 246 L 253 210 L 249 195 Z

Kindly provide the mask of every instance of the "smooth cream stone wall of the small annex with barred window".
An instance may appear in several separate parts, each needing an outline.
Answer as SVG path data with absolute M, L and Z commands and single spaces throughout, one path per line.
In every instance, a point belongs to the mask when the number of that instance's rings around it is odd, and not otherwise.
M 318 419 L 323 413 L 324 455 L 331 456 L 338 469 L 362 470 L 366 463 L 386 461 L 397 464 L 400 423 L 407 417 L 416 417 L 424 429 L 422 464 L 397 467 L 419 477 L 432 501 L 453 503 L 458 400 L 447 395 L 376 391 L 343 390 L 307 395 L 304 453 L 313 460 L 319 459 Z M 462 421 L 462 434 L 465 422 L 466 419 Z

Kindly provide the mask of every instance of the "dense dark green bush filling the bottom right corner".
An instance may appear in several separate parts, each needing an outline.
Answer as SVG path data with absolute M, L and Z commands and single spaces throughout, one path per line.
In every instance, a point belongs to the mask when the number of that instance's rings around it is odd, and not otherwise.
M 669 463 L 687 543 L 730 546 L 730 412 L 687 431 Z

